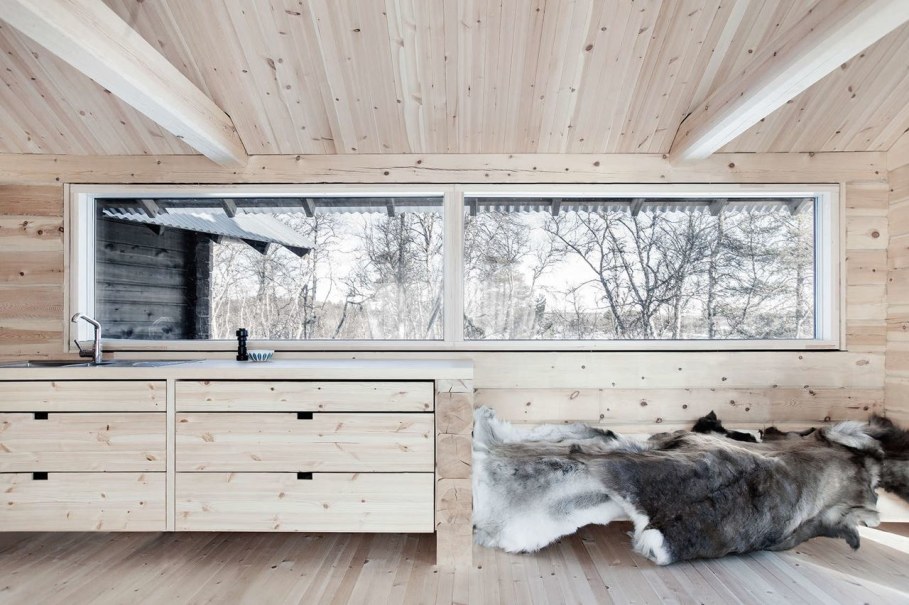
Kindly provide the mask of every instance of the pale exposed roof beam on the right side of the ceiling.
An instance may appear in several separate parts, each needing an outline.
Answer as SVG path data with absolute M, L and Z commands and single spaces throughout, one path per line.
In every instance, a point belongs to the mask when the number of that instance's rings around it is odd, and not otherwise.
M 685 118 L 670 161 L 710 156 L 907 20 L 906 0 L 862 0 L 783 32 Z

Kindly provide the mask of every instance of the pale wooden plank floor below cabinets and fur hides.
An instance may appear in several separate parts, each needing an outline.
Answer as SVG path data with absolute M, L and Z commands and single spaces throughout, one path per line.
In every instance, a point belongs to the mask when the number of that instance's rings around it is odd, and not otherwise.
M 909 603 L 909 554 L 868 539 L 657 567 L 629 527 L 535 555 L 476 547 L 459 571 L 432 565 L 430 536 L 7 534 L 0 603 Z

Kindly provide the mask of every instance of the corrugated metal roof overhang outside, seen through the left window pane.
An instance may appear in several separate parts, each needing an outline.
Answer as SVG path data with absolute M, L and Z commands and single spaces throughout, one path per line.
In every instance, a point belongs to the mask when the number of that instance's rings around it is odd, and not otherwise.
M 300 255 L 313 249 L 308 238 L 271 216 L 237 214 L 231 218 L 222 210 L 208 208 L 171 208 L 154 217 L 138 208 L 102 208 L 101 212 L 105 217 L 131 223 L 278 244 Z

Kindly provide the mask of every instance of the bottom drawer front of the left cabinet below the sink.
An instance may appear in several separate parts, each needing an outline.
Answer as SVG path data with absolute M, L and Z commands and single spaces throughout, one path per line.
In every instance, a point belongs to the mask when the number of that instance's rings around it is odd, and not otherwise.
M 0 531 L 164 531 L 164 473 L 0 474 Z

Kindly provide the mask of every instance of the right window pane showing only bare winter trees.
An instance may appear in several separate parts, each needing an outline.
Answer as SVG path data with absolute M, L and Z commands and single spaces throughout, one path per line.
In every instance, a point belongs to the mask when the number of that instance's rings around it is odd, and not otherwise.
M 465 200 L 467 339 L 814 338 L 814 198 Z

